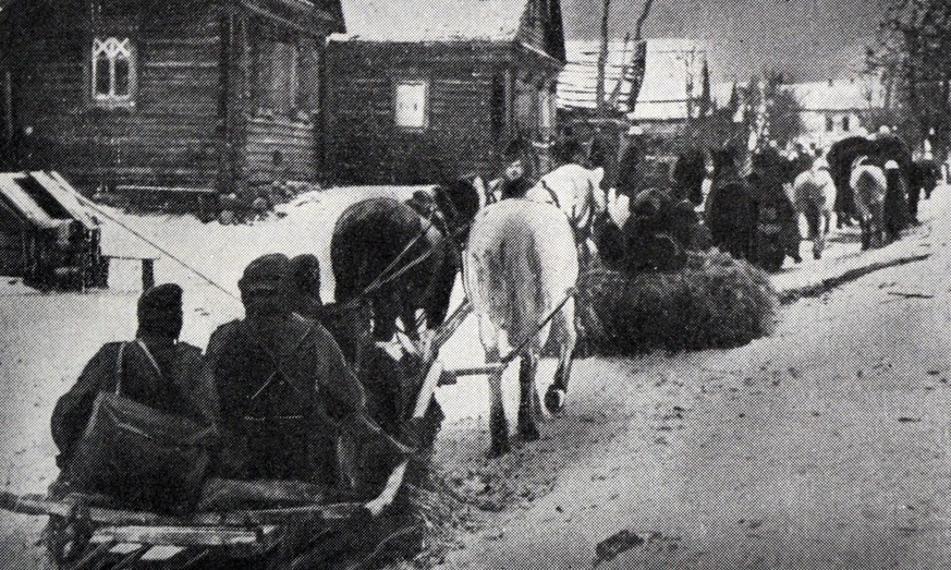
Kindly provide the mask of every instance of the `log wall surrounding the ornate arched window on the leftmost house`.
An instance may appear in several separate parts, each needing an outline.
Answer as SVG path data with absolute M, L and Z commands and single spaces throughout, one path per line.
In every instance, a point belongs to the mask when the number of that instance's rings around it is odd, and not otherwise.
M 221 112 L 214 4 L 130 0 L 90 9 L 74 1 L 38 11 L 28 15 L 40 24 L 20 29 L 14 70 L 24 166 L 60 170 L 87 191 L 102 184 L 214 189 Z M 94 97 L 94 40 L 112 37 L 129 38 L 133 53 L 127 104 Z

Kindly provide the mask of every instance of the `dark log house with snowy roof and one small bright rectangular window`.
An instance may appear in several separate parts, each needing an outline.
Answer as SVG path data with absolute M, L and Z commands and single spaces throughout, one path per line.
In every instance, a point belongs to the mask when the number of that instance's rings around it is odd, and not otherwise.
M 559 0 L 343 0 L 328 45 L 328 170 L 344 182 L 495 173 L 546 148 L 565 49 Z M 544 150 L 541 150 L 544 154 Z

